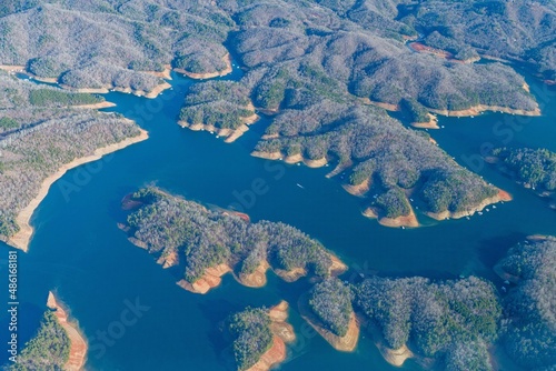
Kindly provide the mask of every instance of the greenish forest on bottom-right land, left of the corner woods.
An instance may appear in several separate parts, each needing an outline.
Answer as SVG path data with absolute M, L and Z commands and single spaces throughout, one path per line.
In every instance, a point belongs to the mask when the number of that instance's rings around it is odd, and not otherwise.
M 502 307 L 489 282 L 374 277 L 355 292 L 356 307 L 388 348 L 410 343 L 421 355 L 444 357 L 447 369 L 490 370 L 487 345 L 498 337 Z

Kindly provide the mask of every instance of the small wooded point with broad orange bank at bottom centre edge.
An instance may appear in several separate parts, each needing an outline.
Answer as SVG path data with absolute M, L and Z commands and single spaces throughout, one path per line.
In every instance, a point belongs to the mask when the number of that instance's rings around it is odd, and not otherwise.
M 286 343 L 296 339 L 287 323 L 288 303 L 270 308 L 247 308 L 226 321 L 226 331 L 232 339 L 235 365 L 238 371 L 264 371 L 286 359 Z

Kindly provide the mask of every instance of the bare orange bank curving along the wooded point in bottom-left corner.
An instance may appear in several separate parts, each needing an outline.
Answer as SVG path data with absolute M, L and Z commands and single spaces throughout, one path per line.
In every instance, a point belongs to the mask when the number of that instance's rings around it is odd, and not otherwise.
M 85 335 L 80 332 L 77 323 L 68 319 L 67 310 L 58 302 L 52 291 L 48 292 L 47 307 L 54 310 L 58 323 L 66 330 L 70 340 L 69 358 L 63 369 L 66 371 L 79 371 L 83 369 L 87 360 L 88 344 Z

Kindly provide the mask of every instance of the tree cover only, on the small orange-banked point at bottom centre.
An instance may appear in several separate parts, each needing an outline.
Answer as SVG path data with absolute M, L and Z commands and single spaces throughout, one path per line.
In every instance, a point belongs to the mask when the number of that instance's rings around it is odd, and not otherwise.
M 227 330 L 231 334 L 237 370 L 247 370 L 272 347 L 270 318 L 262 308 L 247 308 L 230 315 Z

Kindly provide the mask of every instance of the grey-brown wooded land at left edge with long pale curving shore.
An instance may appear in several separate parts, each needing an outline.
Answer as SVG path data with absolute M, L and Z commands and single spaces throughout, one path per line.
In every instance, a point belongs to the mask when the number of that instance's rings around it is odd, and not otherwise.
M 27 250 L 29 220 L 67 170 L 148 138 L 102 97 L 18 80 L 0 71 L 0 239 Z M 83 109 L 85 108 L 85 109 Z

